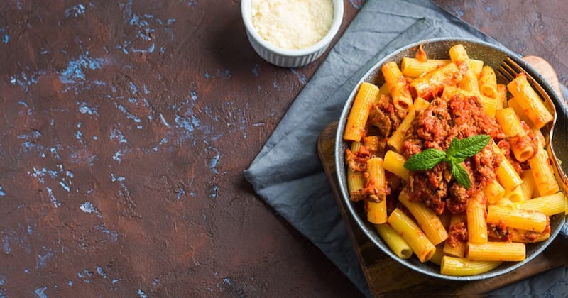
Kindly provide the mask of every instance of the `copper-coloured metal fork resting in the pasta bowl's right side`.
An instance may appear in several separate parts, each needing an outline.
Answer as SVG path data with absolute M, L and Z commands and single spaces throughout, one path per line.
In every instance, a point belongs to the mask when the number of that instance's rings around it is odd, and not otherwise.
M 564 170 L 562 170 L 559 159 L 557 158 L 557 155 L 555 153 L 554 145 L 552 143 L 552 135 L 554 134 L 554 128 L 555 128 L 555 124 L 556 124 L 557 113 L 556 113 L 555 104 L 552 101 L 552 99 L 550 98 L 550 95 L 548 95 L 546 90 L 544 88 L 542 88 L 542 86 L 532 76 L 530 76 L 523 69 L 523 67 L 518 65 L 518 63 L 515 62 L 510 57 L 506 57 L 505 60 L 503 60 L 503 62 L 501 62 L 501 65 L 499 66 L 497 72 L 499 74 L 501 74 L 505 79 L 507 79 L 508 82 L 515 79 L 515 77 L 517 77 L 518 74 L 525 73 L 525 75 L 527 76 L 527 80 L 530 83 L 530 85 L 532 86 L 532 88 L 535 89 L 535 91 L 544 100 L 544 104 L 547 107 L 548 111 L 550 111 L 550 113 L 552 114 L 553 119 L 550 123 L 547 123 L 547 125 L 542 127 L 541 131 L 542 131 L 542 134 L 546 138 L 546 143 L 547 143 L 546 148 L 547 148 L 548 156 L 550 157 L 550 160 L 552 161 L 552 167 L 555 170 L 555 175 L 556 175 L 557 180 L 559 182 L 560 188 L 562 189 L 562 192 L 564 192 L 564 194 L 568 194 L 568 177 L 567 177 L 566 173 L 564 172 Z M 567 162 L 568 162 L 568 160 L 567 160 Z

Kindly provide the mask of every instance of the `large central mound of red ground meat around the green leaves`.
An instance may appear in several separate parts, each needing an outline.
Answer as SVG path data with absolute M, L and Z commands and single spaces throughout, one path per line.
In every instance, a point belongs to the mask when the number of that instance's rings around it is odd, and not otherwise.
M 413 128 L 403 142 L 406 158 L 427 148 L 447 150 L 453 138 L 486 134 L 496 143 L 505 138 L 501 126 L 488 116 L 476 96 L 453 96 L 449 101 L 432 99 L 427 109 L 416 114 Z M 410 199 L 424 202 L 436 214 L 444 209 L 452 214 L 464 212 L 467 200 L 496 178 L 501 155 L 493 152 L 491 143 L 462 165 L 469 172 L 470 189 L 452 179 L 451 169 L 440 162 L 431 170 L 410 173 Z

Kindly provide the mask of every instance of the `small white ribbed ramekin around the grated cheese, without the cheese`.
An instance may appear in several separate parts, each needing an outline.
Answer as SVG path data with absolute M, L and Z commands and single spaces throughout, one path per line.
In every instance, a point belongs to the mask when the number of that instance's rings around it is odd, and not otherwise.
M 329 43 L 332 42 L 339 31 L 343 21 L 343 0 L 333 0 L 333 5 L 333 22 L 327 34 L 315 45 L 300 50 L 277 48 L 264 40 L 261 35 L 258 35 L 251 21 L 251 0 L 241 1 L 241 14 L 246 28 L 246 36 L 256 53 L 273 65 L 294 68 L 310 64 L 319 58 L 327 50 Z

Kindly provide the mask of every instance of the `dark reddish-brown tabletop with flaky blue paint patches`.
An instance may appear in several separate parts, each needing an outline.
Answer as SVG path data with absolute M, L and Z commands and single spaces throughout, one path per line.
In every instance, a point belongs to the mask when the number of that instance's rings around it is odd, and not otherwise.
M 439 1 L 566 83 L 548 2 Z M 242 175 L 323 59 L 261 60 L 239 1 L 2 1 L 0 297 L 358 294 Z

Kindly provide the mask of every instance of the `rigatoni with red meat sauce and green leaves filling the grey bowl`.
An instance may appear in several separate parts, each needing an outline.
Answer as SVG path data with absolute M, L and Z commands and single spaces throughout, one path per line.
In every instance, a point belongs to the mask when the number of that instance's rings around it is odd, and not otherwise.
M 361 84 L 351 112 L 366 120 L 348 118 L 355 137 L 344 137 L 348 188 L 399 258 L 476 275 L 524 260 L 568 201 L 540 133 L 550 112 L 528 81 L 498 82 L 463 45 L 448 55 L 387 62 L 384 82 Z

